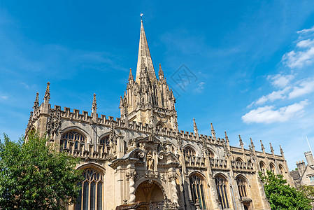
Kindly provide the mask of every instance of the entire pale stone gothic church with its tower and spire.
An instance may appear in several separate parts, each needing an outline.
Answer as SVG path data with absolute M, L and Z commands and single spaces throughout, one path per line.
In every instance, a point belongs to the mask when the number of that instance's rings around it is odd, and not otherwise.
M 283 155 L 230 146 L 227 133 L 216 137 L 178 130 L 176 99 L 159 65 L 152 65 L 143 22 L 136 79 L 130 70 L 120 100 L 121 118 L 50 106 L 50 83 L 44 101 L 38 93 L 27 125 L 48 135 L 51 144 L 80 158 L 84 170 L 80 202 L 68 209 L 270 209 L 258 172 L 283 174 L 293 185 Z M 192 124 L 192 122 L 191 122 Z M 123 206 L 121 206 L 123 205 Z M 119 207 L 120 206 L 120 207 Z

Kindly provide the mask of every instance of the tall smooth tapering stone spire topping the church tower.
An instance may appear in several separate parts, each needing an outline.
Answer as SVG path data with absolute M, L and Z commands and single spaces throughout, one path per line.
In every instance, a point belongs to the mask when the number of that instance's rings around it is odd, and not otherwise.
M 156 74 L 154 66 L 152 65 L 152 57 L 150 56 L 150 48 L 148 48 L 148 42 L 146 39 L 143 21 L 141 20 L 141 33 L 140 33 L 140 43 L 138 47 L 138 59 L 136 68 L 136 83 L 140 83 L 141 65 L 145 64 L 148 71 L 148 76 L 150 80 L 156 80 Z

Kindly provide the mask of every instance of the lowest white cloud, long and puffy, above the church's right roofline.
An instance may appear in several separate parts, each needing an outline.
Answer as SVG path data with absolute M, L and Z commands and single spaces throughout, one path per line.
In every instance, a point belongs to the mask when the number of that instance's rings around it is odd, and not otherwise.
M 275 123 L 285 122 L 290 118 L 304 112 L 304 107 L 308 105 L 308 100 L 301 101 L 290 106 L 284 106 L 275 110 L 274 106 L 264 106 L 253 109 L 242 116 L 244 123 Z

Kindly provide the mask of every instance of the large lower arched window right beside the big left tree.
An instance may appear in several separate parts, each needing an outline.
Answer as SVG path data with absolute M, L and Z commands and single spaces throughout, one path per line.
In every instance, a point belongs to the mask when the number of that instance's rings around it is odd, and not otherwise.
M 76 201 L 76 210 L 102 209 L 103 176 L 94 169 L 85 169 L 83 181 L 78 183 L 82 188 Z

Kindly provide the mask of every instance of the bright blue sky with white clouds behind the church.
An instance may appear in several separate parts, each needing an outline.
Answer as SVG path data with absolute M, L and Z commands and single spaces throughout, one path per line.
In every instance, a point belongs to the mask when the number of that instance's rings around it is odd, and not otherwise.
M 136 71 L 139 14 L 177 97 L 180 130 L 232 146 L 241 134 L 260 151 L 279 144 L 290 169 L 314 148 L 313 1 L 1 1 L 0 132 L 24 134 L 36 92 L 52 106 L 119 117 L 129 68 Z M 185 64 L 196 79 L 172 80 Z

